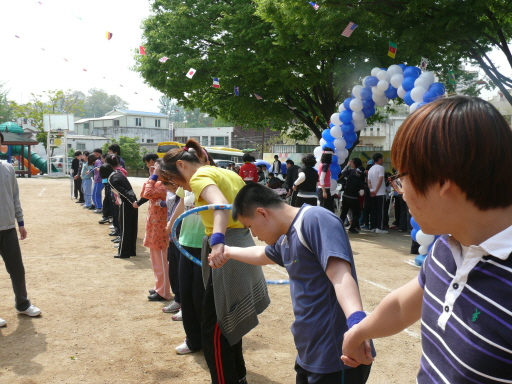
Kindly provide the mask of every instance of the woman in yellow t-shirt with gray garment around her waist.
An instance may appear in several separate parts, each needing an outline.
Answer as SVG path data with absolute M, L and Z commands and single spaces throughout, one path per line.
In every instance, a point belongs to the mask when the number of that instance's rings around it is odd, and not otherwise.
M 193 192 L 196 206 L 232 204 L 244 181 L 227 169 L 203 165 L 204 156 L 199 143 L 191 139 L 185 148 L 165 154 L 159 175 L 164 181 Z M 270 303 L 265 276 L 261 266 L 236 260 L 228 260 L 224 268 L 212 270 L 208 265 L 209 254 L 222 257 L 224 244 L 248 247 L 254 245 L 254 240 L 250 231 L 233 220 L 227 210 L 207 210 L 200 215 L 207 235 L 201 253 L 205 359 L 213 384 L 246 383 L 242 337 L 258 324 L 258 314 Z

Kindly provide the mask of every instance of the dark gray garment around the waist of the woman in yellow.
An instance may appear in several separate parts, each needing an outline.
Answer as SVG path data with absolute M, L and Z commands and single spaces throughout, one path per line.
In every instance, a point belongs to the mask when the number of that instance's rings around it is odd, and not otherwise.
M 228 228 L 226 245 L 233 247 L 254 246 L 248 229 Z M 203 282 L 206 285 L 212 274 L 213 293 L 217 323 L 231 345 L 258 325 L 258 315 L 270 304 L 265 275 L 259 265 L 228 260 L 221 268 L 208 265 L 210 244 L 208 236 L 203 238 L 201 252 Z

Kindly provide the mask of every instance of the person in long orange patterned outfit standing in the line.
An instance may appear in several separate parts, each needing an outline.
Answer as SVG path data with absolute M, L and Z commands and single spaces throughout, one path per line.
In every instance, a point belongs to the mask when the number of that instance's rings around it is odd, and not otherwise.
M 146 234 L 144 246 L 149 248 L 153 274 L 155 275 L 155 288 L 148 296 L 149 301 L 162 301 L 171 299 L 171 285 L 169 281 L 169 262 L 167 261 L 167 248 L 169 238 L 165 227 L 167 224 L 167 188 L 158 180 L 155 169 L 158 168 L 158 159 L 154 166 L 149 167 L 149 179 L 142 186 L 140 196 L 149 200 L 148 216 L 146 219 Z

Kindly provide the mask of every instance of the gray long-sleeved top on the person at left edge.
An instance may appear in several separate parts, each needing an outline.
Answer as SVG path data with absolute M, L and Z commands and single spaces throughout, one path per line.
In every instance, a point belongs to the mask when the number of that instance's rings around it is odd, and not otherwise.
M 0 161 L 0 231 L 14 228 L 23 222 L 18 180 L 11 164 Z

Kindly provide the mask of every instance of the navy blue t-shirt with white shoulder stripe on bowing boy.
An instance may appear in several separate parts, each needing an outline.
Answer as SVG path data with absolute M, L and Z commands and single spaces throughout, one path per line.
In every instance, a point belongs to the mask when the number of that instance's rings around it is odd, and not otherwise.
M 313 373 L 350 368 L 340 360 L 346 318 L 325 273 L 329 258 L 338 257 L 350 263 L 357 282 L 352 249 L 340 218 L 322 207 L 305 204 L 288 233 L 268 245 L 265 254 L 290 276 L 297 363 Z

